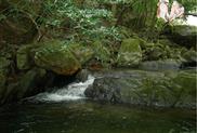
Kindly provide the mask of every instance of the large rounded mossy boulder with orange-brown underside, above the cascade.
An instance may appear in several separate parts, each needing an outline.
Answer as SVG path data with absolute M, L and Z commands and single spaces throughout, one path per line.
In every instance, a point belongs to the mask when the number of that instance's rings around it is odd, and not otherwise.
M 70 76 L 81 69 L 80 62 L 61 41 L 49 42 L 35 52 L 37 66 L 58 75 Z

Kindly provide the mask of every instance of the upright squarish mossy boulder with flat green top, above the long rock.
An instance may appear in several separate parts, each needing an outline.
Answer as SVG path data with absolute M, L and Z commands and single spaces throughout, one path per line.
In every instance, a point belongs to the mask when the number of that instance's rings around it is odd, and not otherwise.
M 117 64 L 122 67 L 135 67 L 142 61 L 141 41 L 139 39 L 124 39 L 118 52 Z

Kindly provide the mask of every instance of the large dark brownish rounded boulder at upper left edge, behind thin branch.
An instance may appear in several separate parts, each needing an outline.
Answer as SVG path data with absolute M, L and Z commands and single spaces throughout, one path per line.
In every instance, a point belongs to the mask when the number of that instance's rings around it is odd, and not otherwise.
M 36 24 L 24 12 L 15 12 L 0 22 L 1 42 L 24 44 L 32 42 L 38 34 Z

